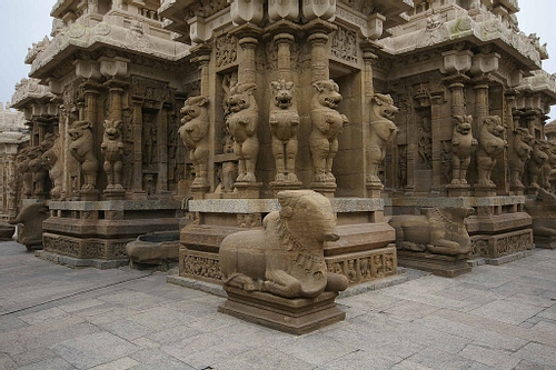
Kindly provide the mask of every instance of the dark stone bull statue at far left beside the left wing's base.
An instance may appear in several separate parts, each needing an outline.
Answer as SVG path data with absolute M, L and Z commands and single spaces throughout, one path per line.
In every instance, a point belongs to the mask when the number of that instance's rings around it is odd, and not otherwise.
M 18 242 L 24 244 L 28 251 L 42 249 L 42 222 L 49 218 L 48 207 L 43 202 L 30 203 L 23 207 L 11 224 L 23 224 L 18 230 Z

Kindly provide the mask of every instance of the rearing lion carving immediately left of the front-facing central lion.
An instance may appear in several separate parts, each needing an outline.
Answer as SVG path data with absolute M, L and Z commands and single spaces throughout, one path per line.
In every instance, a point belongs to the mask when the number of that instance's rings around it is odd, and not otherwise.
M 237 182 L 257 182 L 255 168 L 259 153 L 259 110 L 252 94 L 256 89 L 255 83 L 238 83 L 230 88 L 228 98 L 230 114 L 226 119 L 226 127 L 234 137 L 234 153 L 239 160 Z

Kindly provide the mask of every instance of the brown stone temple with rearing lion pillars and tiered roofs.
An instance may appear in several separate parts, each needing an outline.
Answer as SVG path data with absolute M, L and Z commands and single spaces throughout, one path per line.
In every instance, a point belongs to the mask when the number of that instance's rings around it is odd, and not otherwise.
M 222 240 L 266 227 L 284 191 L 330 200 L 339 239 L 324 242 L 326 269 L 349 286 L 556 248 L 556 77 L 518 11 L 59 0 L 11 102 L 30 140 L 10 149 L 20 170 L 2 177 L 2 214 L 18 209 L 20 232 L 54 262 L 168 261 L 128 256 L 151 234 L 175 246 L 181 278 L 217 284 Z M 40 222 L 26 221 L 33 204 Z

